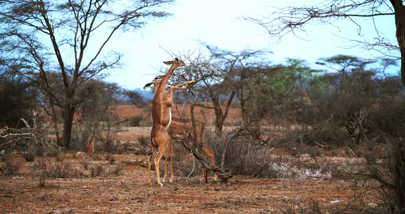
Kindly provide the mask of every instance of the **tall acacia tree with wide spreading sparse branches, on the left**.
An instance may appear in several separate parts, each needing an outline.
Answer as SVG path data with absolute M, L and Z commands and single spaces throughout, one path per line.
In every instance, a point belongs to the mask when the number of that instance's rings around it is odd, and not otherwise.
M 0 63 L 30 78 L 63 109 L 60 143 L 69 148 L 76 106 L 91 93 L 78 95 L 77 88 L 119 64 L 119 53 L 105 53 L 108 42 L 120 31 L 167 16 L 161 6 L 173 1 L 1 0 Z M 49 83 L 49 73 L 58 74 L 62 96 Z

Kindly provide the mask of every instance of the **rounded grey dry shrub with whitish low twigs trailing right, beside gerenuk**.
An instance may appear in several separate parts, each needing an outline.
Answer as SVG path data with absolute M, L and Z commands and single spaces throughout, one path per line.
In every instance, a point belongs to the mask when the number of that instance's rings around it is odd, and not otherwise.
M 206 137 L 212 144 L 216 160 L 221 160 L 224 152 L 224 137 L 212 135 Z M 299 164 L 297 159 L 286 156 L 273 155 L 270 145 L 261 144 L 248 136 L 239 136 L 227 147 L 224 159 L 224 169 L 229 169 L 232 174 L 262 178 L 295 178 L 304 180 L 308 178 L 331 178 L 329 163 L 305 166 Z M 218 161 L 218 164 L 221 162 Z

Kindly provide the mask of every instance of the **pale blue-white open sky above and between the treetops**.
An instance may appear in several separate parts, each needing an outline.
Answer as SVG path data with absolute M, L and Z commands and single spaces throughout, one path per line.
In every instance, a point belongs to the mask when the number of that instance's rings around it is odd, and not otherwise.
M 117 82 L 127 89 L 142 88 L 150 82 L 160 69 L 167 69 L 162 62 L 172 60 L 172 55 L 189 53 L 201 43 L 230 51 L 243 49 L 272 51 L 268 61 L 283 63 L 287 58 L 306 60 L 314 64 L 323 57 L 346 54 L 361 58 L 374 58 L 379 53 L 361 47 L 352 47 L 344 38 L 359 39 L 358 27 L 349 20 L 332 25 L 308 25 L 306 32 L 294 36 L 288 34 L 277 40 L 266 34 L 266 30 L 240 17 L 260 17 L 276 8 L 291 5 L 316 5 L 319 0 L 177 0 L 165 10 L 172 16 L 150 21 L 136 32 L 115 34 L 110 49 L 123 54 L 122 66 L 110 72 L 106 80 Z M 357 19 L 361 23 L 362 38 L 371 40 L 375 36 L 374 26 L 380 33 L 395 40 L 393 16 Z M 338 26 L 338 27 L 337 27 Z M 186 62 L 187 63 L 187 62 Z M 399 70 L 399 68 L 397 68 Z

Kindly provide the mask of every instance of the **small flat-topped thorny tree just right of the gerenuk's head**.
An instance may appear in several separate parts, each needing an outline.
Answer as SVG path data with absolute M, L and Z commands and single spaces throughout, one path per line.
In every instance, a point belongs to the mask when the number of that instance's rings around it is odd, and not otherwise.
M 199 55 L 192 58 L 185 56 L 190 65 L 186 71 L 176 75 L 178 80 L 196 80 L 195 95 L 200 101 L 196 106 L 213 109 L 216 116 L 216 132 L 222 132 L 224 121 L 227 119 L 229 108 L 235 98 L 246 84 L 244 80 L 248 73 L 247 67 L 257 63 L 259 56 L 263 56 L 266 51 L 228 51 L 218 47 L 205 45 L 209 51 L 209 56 Z M 187 79 L 188 78 L 188 79 Z M 252 84 L 249 84 L 252 85 Z

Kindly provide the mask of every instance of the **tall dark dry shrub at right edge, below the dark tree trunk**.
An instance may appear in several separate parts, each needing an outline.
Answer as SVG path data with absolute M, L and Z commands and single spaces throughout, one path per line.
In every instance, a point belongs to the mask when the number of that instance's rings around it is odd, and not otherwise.
M 361 167 L 349 173 L 341 170 L 339 176 L 356 180 L 356 183 L 377 182 L 378 185 L 367 189 L 373 188 L 380 193 L 385 213 L 399 213 L 398 211 L 404 211 L 405 207 L 405 99 L 397 97 L 380 99 L 379 102 L 381 107 L 375 107 L 369 112 L 371 133 L 367 133 L 364 143 L 382 143 L 389 152 L 377 150 L 378 152 L 364 154 L 365 163 Z M 374 212 L 384 213 L 378 209 Z

